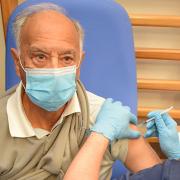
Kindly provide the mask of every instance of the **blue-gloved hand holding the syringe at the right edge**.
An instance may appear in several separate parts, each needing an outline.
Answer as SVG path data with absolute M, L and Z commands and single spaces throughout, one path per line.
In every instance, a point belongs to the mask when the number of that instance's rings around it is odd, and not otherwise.
M 155 117 L 154 121 L 147 123 L 145 137 L 149 137 L 155 131 L 159 137 L 161 150 L 169 159 L 180 159 L 180 142 L 176 130 L 176 122 L 167 114 L 160 115 L 160 112 L 150 112 L 149 118 Z

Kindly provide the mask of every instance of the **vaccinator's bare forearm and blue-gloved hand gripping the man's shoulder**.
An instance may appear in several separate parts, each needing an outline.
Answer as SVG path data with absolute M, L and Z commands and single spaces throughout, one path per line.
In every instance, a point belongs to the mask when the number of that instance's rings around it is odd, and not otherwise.
M 121 117 L 124 121 L 120 121 Z M 110 141 L 119 138 L 138 138 L 140 133 L 129 128 L 137 119 L 128 107 L 107 99 L 91 127 L 91 134 L 76 155 L 64 177 L 69 179 L 98 179 L 100 165 Z

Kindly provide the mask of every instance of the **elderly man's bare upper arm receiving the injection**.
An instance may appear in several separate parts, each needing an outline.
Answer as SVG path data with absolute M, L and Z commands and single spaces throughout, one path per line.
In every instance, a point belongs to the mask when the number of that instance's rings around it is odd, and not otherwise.
M 134 125 L 131 125 L 131 128 L 134 130 L 138 129 Z M 143 137 L 129 140 L 128 154 L 125 161 L 128 169 L 138 172 L 159 163 L 161 163 L 160 158 Z

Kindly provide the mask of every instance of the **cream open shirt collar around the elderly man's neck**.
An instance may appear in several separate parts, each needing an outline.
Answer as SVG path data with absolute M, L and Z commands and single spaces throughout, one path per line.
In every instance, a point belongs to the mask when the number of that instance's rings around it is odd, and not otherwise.
M 9 123 L 9 130 L 11 136 L 19 137 L 19 138 L 37 136 L 38 138 L 41 138 L 49 134 L 49 132 L 46 131 L 46 133 L 43 133 L 43 135 L 38 135 L 37 129 L 34 129 L 32 127 L 30 121 L 28 120 L 24 112 L 22 99 L 21 99 L 21 92 L 22 92 L 22 83 L 18 85 L 16 92 L 8 99 L 7 102 L 7 115 L 8 115 L 8 123 Z M 66 116 L 78 112 L 81 112 L 81 109 L 80 109 L 77 93 L 75 93 L 72 99 L 67 104 L 60 119 L 52 128 L 52 130 L 56 126 L 58 126 Z

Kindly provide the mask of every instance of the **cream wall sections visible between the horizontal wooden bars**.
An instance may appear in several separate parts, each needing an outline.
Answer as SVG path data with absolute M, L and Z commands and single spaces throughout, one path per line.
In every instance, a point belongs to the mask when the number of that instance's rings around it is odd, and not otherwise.
M 180 15 L 180 0 L 117 0 L 131 14 Z M 133 27 L 135 47 L 180 49 L 180 28 Z M 137 60 L 137 77 L 180 80 L 180 62 Z M 140 107 L 180 108 L 180 92 L 139 90 Z

